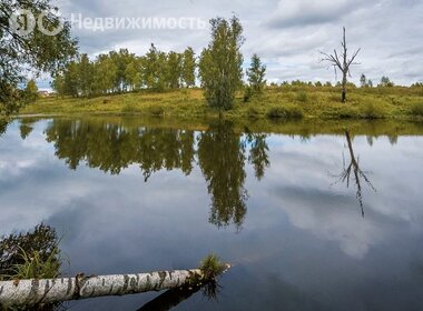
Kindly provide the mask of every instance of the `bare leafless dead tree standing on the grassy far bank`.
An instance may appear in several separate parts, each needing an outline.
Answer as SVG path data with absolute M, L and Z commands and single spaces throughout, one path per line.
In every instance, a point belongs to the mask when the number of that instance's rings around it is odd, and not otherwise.
M 333 54 L 327 54 L 324 52 L 322 52 L 322 54 L 324 56 L 323 61 L 329 62 L 334 67 L 335 72 L 336 72 L 336 69 L 341 70 L 342 72 L 342 102 L 345 103 L 347 76 L 351 77 L 351 71 L 350 71 L 351 66 L 357 64 L 356 62 L 354 62 L 354 60 L 360 53 L 361 49 L 356 50 L 353 53 L 353 57 L 348 59 L 348 56 L 347 56 L 348 49 L 346 47 L 346 39 L 345 39 L 345 27 L 343 28 L 343 30 L 344 30 L 344 36 L 343 36 L 343 41 L 341 42 L 343 51 L 341 52 L 341 59 L 336 50 L 334 50 Z

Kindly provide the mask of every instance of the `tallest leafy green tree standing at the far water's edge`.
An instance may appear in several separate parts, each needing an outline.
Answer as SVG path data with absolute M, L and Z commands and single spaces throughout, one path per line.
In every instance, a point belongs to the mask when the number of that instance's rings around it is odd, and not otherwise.
M 242 87 L 244 43 L 239 19 L 223 18 L 210 20 L 212 41 L 203 50 L 199 61 L 199 77 L 205 97 L 210 107 L 229 110 L 235 92 Z

